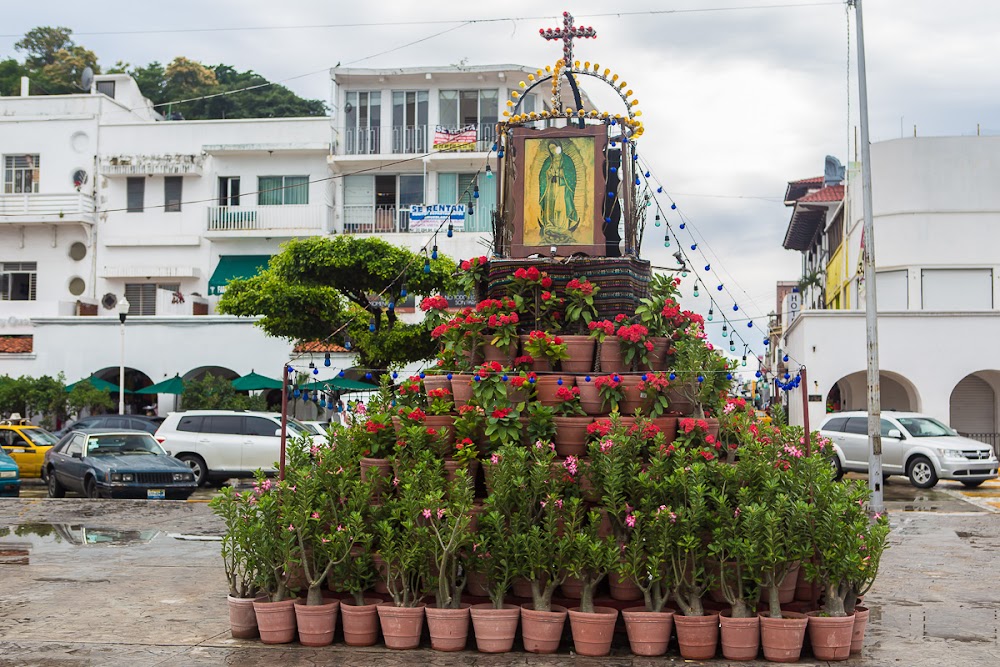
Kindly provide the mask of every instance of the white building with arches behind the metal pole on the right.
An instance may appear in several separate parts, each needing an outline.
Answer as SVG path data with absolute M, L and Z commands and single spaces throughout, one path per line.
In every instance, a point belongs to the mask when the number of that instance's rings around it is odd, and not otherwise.
M 882 407 L 925 412 L 994 443 L 1000 431 L 998 179 L 1000 137 L 909 138 L 872 146 Z M 793 216 L 786 235 L 787 241 L 804 234 L 812 252 L 825 253 L 826 309 L 803 309 L 783 332 L 783 348 L 794 360 L 789 366 L 808 368 L 813 426 L 827 405 L 866 407 L 856 167 L 849 173 L 846 213 L 839 214 L 839 204 L 830 208 L 835 210 L 818 216 L 811 228 Z M 791 400 L 789 408 L 793 423 L 802 423 L 800 401 Z

